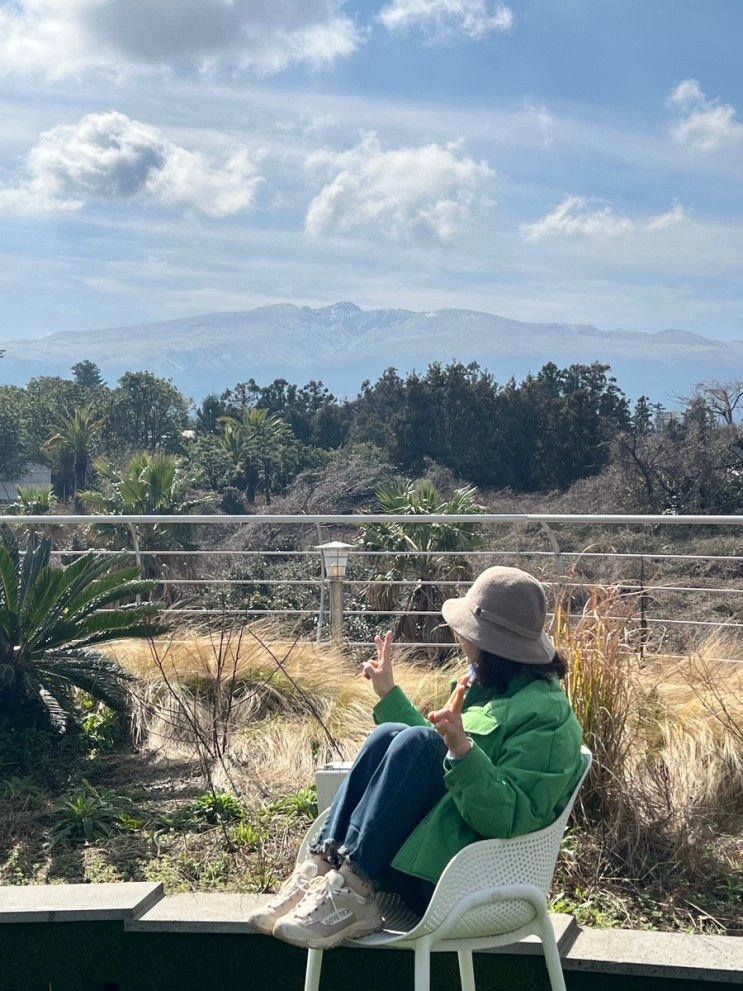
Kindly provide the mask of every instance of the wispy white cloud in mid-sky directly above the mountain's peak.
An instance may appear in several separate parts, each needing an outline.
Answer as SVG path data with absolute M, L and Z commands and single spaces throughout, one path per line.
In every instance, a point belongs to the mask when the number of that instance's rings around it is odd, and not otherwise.
M 450 240 L 493 175 L 458 143 L 385 150 L 373 132 L 349 151 L 315 152 L 306 165 L 331 176 L 307 211 L 310 234 L 366 228 L 393 240 Z

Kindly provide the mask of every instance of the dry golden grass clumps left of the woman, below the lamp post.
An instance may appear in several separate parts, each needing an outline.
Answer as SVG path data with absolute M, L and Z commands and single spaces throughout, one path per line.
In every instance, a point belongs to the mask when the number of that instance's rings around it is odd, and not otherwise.
M 181 631 L 156 651 L 126 641 L 110 652 L 137 679 L 135 718 L 145 745 L 167 758 L 193 756 L 194 719 L 207 735 L 219 723 L 228 738 L 229 783 L 246 800 L 306 787 L 327 760 L 353 760 L 374 725 L 374 694 L 358 663 L 327 643 L 294 641 L 266 623 L 254 624 L 248 635 Z M 223 655 L 229 684 L 216 699 Z M 164 690 L 163 673 L 174 690 Z M 448 696 L 458 674 L 458 667 L 396 660 L 398 684 L 426 710 Z M 227 784 L 225 769 L 214 770 L 215 781 Z

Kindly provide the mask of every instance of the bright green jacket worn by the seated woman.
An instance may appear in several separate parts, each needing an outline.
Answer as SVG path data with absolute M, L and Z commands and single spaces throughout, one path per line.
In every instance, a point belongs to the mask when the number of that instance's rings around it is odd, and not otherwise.
M 374 707 L 376 723 L 427 726 L 401 688 Z M 462 707 L 473 747 L 444 759 L 448 789 L 413 830 L 392 866 L 436 882 L 451 858 L 480 839 L 533 833 L 555 821 L 581 774 L 583 731 L 560 682 L 520 676 L 498 695 L 474 683 Z

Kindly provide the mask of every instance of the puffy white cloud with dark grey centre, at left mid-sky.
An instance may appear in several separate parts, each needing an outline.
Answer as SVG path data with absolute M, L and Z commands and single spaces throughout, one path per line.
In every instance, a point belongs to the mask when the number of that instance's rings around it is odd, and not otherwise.
M 210 161 L 113 110 L 46 131 L 28 154 L 27 173 L 0 188 L 0 210 L 46 213 L 141 196 L 226 217 L 250 209 L 262 181 L 243 149 Z

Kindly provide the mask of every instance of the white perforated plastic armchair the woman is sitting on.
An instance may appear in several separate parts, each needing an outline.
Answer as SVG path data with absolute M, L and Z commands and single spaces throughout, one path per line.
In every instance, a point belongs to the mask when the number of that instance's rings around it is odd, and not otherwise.
M 479 840 L 460 850 L 441 875 L 422 918 L 397 895 L 380 894 L 384 929 L 344 945 L 413 950 L 415 991 L 430 989 L 431 953 L 456 950 L 462 991 L 476 991 L 474 950 L 508 946 L 534 934 L 542 943 L 552 991 L 565 991 L 547 896 L 570 812 L 591 767 L 591 751 L 582 747 L 581 756 L 580 781 L 551 826 L 509 840 Z M 329 811 L 310 826 L 297 862 L 308 855 Z M 322 955 L 322 950 L 307 951 L 304 991 L 319 991 Z

